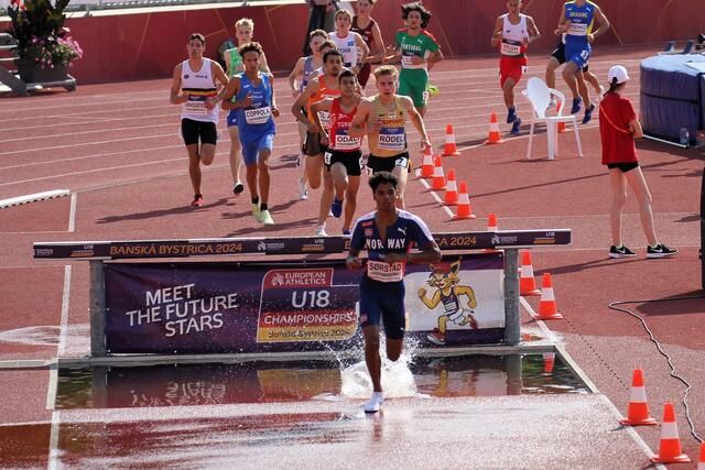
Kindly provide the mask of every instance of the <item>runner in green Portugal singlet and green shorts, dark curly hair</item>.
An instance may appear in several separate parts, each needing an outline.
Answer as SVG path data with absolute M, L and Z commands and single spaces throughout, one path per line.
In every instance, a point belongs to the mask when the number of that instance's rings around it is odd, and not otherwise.
M 401 13 L 406 28 L 397 31 L 395 46 L 390 51 L 394 54 L 382 62 L 401 58 L 399 95 L 411 97 L 416 110 L 424 116 L 429 99 L 429 70 L 443 61 L 443 54 L 435 37 L 425 30 L 431 12 L 422 2 L 402 4 Z

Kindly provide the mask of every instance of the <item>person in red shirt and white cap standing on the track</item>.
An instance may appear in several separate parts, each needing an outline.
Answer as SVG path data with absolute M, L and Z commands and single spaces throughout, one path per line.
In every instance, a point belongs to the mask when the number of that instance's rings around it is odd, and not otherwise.
M 631 101 L 622 96 L 629 81 L 629 74 L 621 65 L 609 69 L 609 90 L 599 105 L 599 133 L 603 141 L 603 164 L 609 168 L 612 189 L 612 203 L 609 212 L 612 245 L 610 258 L 636 256 L 637 253 L 625 247 L 621 239 L 621 215 L 627 200 L 626 184 L 634 192 L 639 200 L 639 216 L 644 234 L 649 241 L 647 258 L 664 258 L 677 253 L 657 240 L 651 212 L 651 194 L 639 167 L 634 139 L 641 139 L 643 131 Z

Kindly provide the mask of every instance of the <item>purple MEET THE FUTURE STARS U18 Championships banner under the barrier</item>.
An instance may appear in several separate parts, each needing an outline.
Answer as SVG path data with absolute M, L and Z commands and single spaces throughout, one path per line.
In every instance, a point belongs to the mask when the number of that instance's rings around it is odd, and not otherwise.
M 406 267 L 406 331 L 422 346 L 503 340 L 502 253 Z M 358 340 L 362 271 L 343 261 L 107 263 L 109 353 L 289 352 Z

